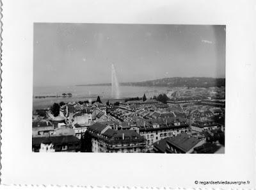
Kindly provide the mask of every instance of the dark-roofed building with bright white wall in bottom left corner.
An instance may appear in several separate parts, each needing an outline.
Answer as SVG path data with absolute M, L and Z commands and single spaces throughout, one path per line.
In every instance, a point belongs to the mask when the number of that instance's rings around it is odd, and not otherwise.
M 33 152 L 78 152 L 80 148 L 80 140 L 72 135 L 32 138 Z

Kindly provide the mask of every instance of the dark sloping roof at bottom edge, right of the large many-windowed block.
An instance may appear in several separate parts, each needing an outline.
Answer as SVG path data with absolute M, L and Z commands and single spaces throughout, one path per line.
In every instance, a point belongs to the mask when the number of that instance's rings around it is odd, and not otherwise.
M 193 136 L 189 136 L 188 134 L 179 134 L 173 138 L 168 139 L 167 143 L 170 143 L 173 146 L 176 146 L 183 152 L 188 152 L 191 148 L 193 148 L 197 143 L 200 142 L 200 139 L 197 139 Z

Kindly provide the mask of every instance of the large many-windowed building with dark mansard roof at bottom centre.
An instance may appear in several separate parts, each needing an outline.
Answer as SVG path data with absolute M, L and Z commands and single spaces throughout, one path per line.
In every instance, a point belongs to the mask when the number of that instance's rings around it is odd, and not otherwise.
M 101 123 L 88 127 L 87 134 L 92 152 L 143 152 L 146 145 L 146 140 L 135 131 L 116 131 Z

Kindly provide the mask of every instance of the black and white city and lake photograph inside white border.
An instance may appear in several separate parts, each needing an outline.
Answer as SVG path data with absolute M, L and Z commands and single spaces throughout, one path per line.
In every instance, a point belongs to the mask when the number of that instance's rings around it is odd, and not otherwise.
M 224 25 L 33 24 L 33 152 L 225 154 Z

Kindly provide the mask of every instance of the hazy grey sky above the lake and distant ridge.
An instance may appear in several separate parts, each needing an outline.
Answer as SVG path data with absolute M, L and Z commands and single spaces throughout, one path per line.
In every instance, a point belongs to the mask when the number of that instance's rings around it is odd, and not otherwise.
M 35 23 L 33 85 L 225 77 L 225 26 Z

